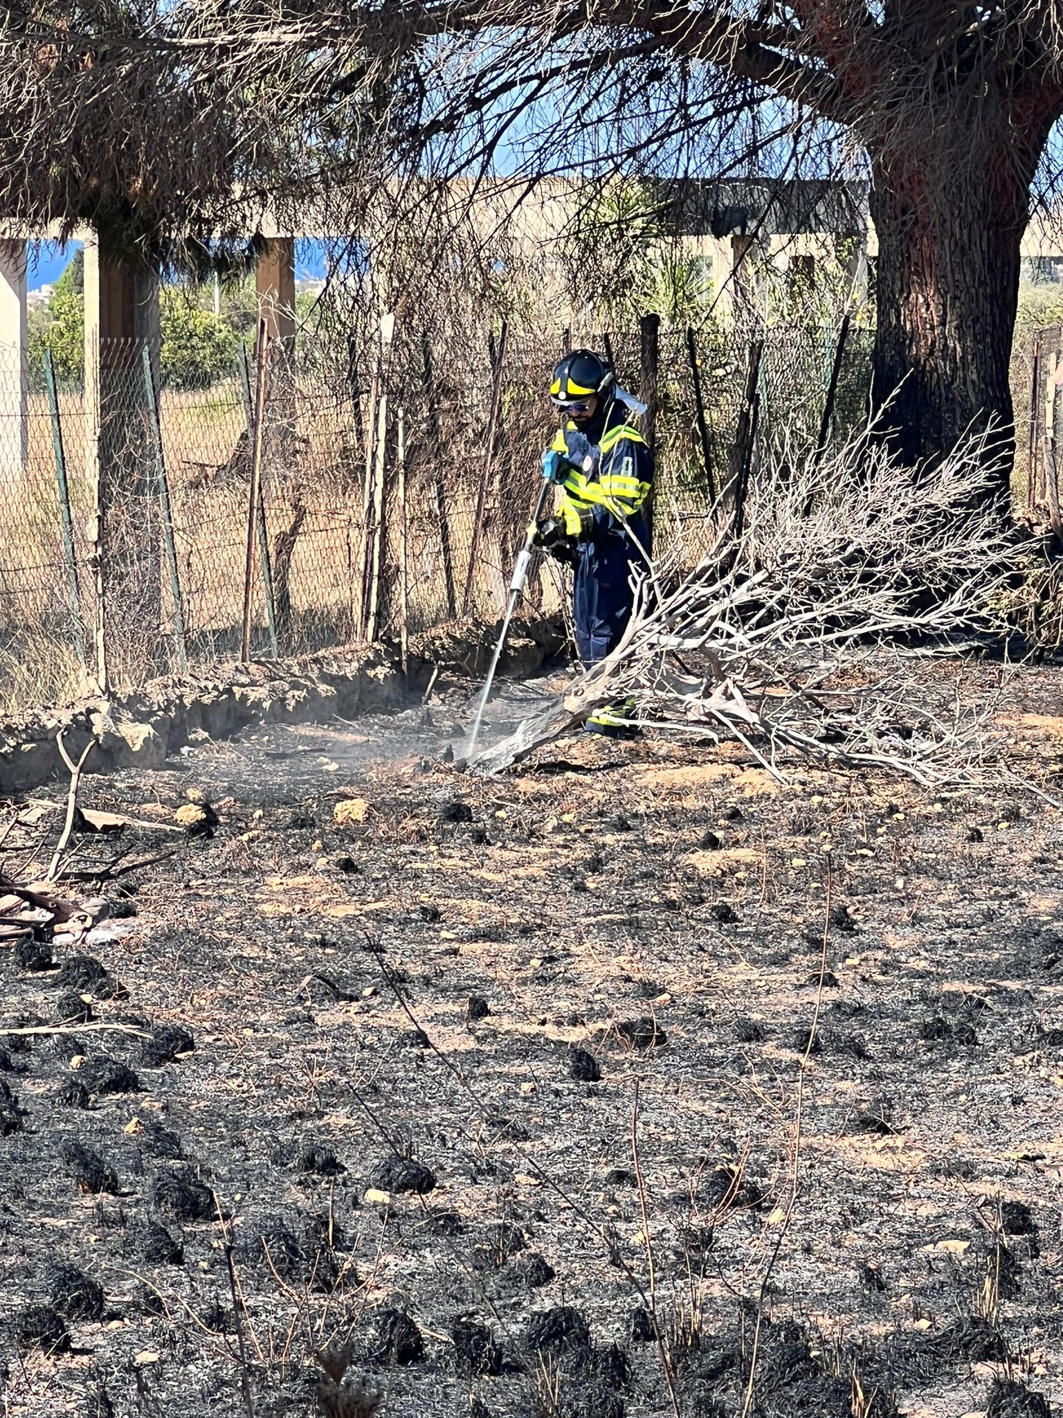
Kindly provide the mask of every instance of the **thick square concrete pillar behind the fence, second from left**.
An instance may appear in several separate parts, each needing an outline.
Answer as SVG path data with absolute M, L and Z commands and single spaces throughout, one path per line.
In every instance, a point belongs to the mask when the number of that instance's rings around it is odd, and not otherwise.
M 85 240 L 85 472 L 101 689 L 157 668 L 160 554 L 143 350 L 159 369 L 159 274 Z

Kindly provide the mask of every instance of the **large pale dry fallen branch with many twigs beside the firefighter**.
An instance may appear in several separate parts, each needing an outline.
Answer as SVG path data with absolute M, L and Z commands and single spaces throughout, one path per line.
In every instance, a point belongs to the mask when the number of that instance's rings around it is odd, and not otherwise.
M 740 742 L 777 777 L 795 756 L 927 786 L 972 773 L 995 706 L 927 685 L 911 648 L 995 625 L 1018 564 L 985 496 L 1001 455 L 992 434 L 971 437 L 913 475 L 867 428 L 829 462 L 787 459 L 750 495 L 737 545 L 724 527 L 679 579 L 677 549 L 658 562 L 621 645 L 468 766 L 499 773 L 632 700 L 655 726 Z

